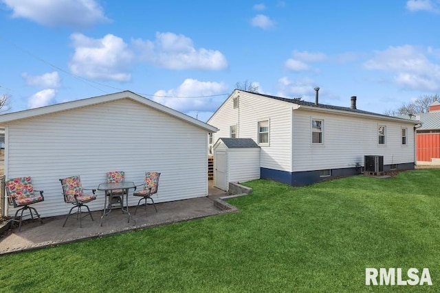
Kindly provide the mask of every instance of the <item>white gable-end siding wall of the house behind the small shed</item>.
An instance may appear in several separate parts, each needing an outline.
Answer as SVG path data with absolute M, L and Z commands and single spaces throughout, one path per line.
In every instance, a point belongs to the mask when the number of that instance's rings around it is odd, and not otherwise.
M 239 94 L 239 108 L 234 108 L 231 95 L 208 124 L 219 128 L 214 142 L 230 137 L 229 128 L 237 126 L 237 137 L 258 142 L 258 122 L 270 119 L 270 146 L 261 146 L 261 167 L 292 171 L 292 104 L 252 93 Z

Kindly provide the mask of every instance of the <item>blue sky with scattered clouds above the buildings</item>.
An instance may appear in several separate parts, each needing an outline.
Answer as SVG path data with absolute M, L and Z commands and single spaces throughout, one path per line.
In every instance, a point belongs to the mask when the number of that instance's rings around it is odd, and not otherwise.
M 247 81 L 384 113 L 440 93 L 439 27 L 439 0 L 0 0 L 0 95 L 129 90 L 206 121 Z

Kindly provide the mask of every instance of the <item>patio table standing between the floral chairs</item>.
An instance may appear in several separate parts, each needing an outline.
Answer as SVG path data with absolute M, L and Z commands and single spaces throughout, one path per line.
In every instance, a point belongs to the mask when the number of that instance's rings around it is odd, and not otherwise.
M 129 190 L 131 188 L 135 188 L 135 183 L 133 182 L 101 183 L 98 186 L 98 190 L 105 192 L 104 211 L 102 211 L 101 226 L 104 217 L 106 217 L 111 212 L 111 208 L 113 207 L 112 204 L 113 198 L 118 198 L 120 200 L 121 211 L 122 213 L 126 213 L 127 215 L 129 215 L 129 222 L 130 222 L 131 215 L 129 212 Z M 122 194 L 120 193 L 113 194 L 113 190 L 118 190 L 118 189 L 119 190 L 122 189 Z M 125 207 L 124 207 L 124 195 L 125 195 Z M 107 198 L 109 200 L 108 203 L 107 203 Z

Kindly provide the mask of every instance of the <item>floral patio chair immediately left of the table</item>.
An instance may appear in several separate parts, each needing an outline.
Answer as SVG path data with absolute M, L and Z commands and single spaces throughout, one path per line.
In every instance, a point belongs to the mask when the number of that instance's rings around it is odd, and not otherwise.
M 80 176 L 70 176 L 67 178 L 63 178 L 60 179 L 60 182 L 61 187 L 63 187 L 64 201 L 68 204 L 74 204 L 74 207 L 70 209 L 69 213 L 66 216 L 66 219 L 64 220 L 63 227 L 65 226 L 67 219 L 76 214 L 76 220 L 80 220 L 80 228 L 83 228 L 81 219 L 87 217 L 87 215 L 83 215 L 83 207 L 87 207 L 88 215 L 90 215 L 92 221 L 94 220 L 94 217 L 91 216 L 90 209 L 86 205 L 86 203 L 91 202 L 92 200 L 96 200 L 96 189 L 83 188 L 83 185 L 81 185 Z M 91 193 L 85 194 L 85 190 L 91 190 Z M 72 210 L 75 208 L 77 209 L 76 213 L 72 214 Z

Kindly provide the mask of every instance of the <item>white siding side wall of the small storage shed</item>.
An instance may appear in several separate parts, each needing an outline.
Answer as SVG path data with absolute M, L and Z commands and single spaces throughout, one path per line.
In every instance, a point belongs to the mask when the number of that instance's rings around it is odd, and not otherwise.
M 260 149 L 229 149 L 229 181 L 245 182 L 260 178 Z

